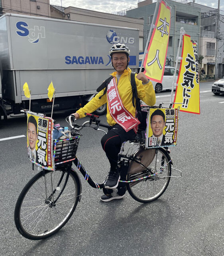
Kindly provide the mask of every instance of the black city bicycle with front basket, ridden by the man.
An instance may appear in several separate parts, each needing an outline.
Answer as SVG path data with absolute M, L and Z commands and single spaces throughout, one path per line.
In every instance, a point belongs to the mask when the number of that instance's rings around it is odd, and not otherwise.
M 104 194 L 113 190 L 129 194 L 138 202 L 147 203 L 159 198 L 167 189 L 171 177 L 181 178 L 180 170 L 171 167 L 173 164 L 168 147 L 144 148 L 144 140 L 136 136 L 129 141 L 125 153 L 124 142 L 119 154 L 120 182 L 118 188 L 107 190 L 104 183 L 96 183 L 89 176 L 84 166 L 76 156 L 80 131 L 84 127 L 100 130 L 99 127 L 110 128 L 100 123 L 99 116 L 86 114 L 90 120 L 82 125 L 74 124 L 71 116 L 66 121 L 71 127 L 71 138 L 55 140 L 54 159 L 55 170 L 42 169 L 23 188 L 16 202 L 14 220 L 16 228 L 25 238 L 40 240 L 58 232 L 69 221 L 75 208 L 81 200 L 82 186 L 72 163 L 81 172 L 84 179 L 93 188 L 102 189 Z M 87 126 L 88 124 L 88 126 Z M 94 125 L 94 126 L 93 126 Z M 105 132 L 106 133 L 106 132 Z M 141 137 L 141 138 L 140 138 Z M 57 150 L 56 145 L 61 147 Z M 180 172 L 180 176 L 171 176 L 171 169 Z

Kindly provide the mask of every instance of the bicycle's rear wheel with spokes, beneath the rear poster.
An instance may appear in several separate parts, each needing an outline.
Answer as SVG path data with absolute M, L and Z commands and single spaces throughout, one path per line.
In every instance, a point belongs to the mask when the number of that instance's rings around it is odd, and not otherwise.
M 127 180 L 138 180 L 140 178 L 149 176 L 148 178 L 131 182 L 127 184 L 129 194 L 141 203 L 148 203 L 159 198 L 167 189 L 171 176 L 171 162 L 169 154 L 163 149 L 158 148 L 155 153 L 155 149 L 147 149 L 150 158 L 150 152 L 155 157 L 151 163 L 147 166 L 149 170 L 140 170 L 134 174 L 128 174 Z

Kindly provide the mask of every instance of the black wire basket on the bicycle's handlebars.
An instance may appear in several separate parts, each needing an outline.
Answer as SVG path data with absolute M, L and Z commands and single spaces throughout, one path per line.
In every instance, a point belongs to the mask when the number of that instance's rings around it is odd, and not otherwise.
M 62 140 L 54 140 L 53 157 L 55 165 L 73 161 L 79 145 L 80 134 Z

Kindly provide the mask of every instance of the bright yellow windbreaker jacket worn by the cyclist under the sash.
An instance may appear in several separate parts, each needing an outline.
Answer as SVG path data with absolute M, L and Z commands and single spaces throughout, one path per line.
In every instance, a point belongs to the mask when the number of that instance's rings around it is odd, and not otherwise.
M 128 110 L 133 116 L 136 114 L 136 108 L 132 104 L 132 85 L 130 80 L 130 74 L 132 70 L 128 68 L 127 70 L 124 70 L 124 73 L 121 75 L 119 82 L 117 84 L 118 86 L 118 92 L 120 95 L 120 98 L 122 100 L 122 103 L 126 110 Z M 116 72 L 113 72 L 111 74 L 112 76 L 116 77 Z M 137 74 L 136 74 L 137 75 Z M 147 84 L 142 85 L 141 80 L 136 80 L 136 87 L 138 92 L 138 98 L 145 102 L 149 106 L 153 106 L 155 104 L 155 91 L 153 89 L 152 83 L 149 81 Z M 116 79 L 117 82 L 117 79 Z M 77 113 L 79 114 L 80 118 L 83 118 L 85 115 L 84 113 L 92 113 L 97 108 L 102 106 L 107 102 L 106 94 L 103 95 L 104 90 L 101 90 L 90 102 L 88 102 L 83 108 L 80 108 Z M 102 96 L 100 99 L 99 97 Z M 136 104 L 135 104 L 136 106 Z M 116 124 L 115 120 L 110 115 L 110 112 L 108 110 L 107 106 L 107 114 L 106 114 L 107 122 L 110 126 L 113 126 Z

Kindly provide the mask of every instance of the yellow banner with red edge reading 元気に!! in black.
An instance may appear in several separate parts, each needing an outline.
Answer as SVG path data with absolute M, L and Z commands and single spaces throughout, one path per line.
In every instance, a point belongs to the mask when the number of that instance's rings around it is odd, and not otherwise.
M 200 114 L 200 90 L 198 77 L 198 52 L 189 35 L 183 35 L 182 60 L 174 98 L 175 108 Z M 175 103 L 177 102 L 177 103 Z

